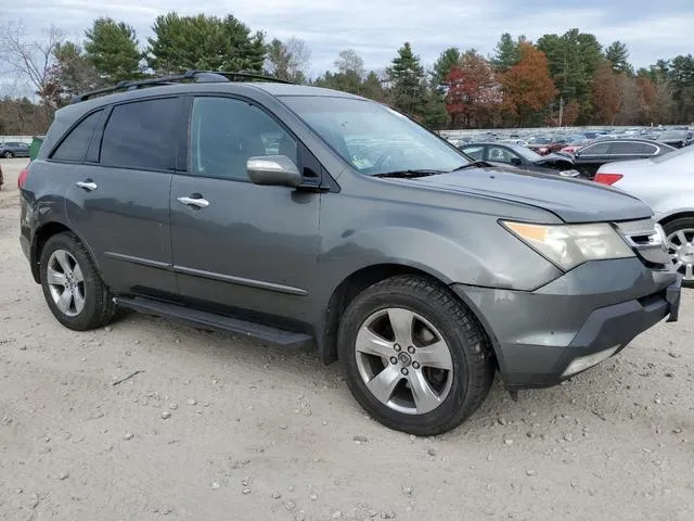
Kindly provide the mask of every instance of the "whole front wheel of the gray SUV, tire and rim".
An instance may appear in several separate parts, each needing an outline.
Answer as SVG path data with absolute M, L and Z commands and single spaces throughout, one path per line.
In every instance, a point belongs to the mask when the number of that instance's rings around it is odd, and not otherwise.
M 410 327 L 395 333 L 393 323 Z M 399 345 L 408 335 L 412 345 Z M 485 401 L 494 376 L 476 318 L 448 289 L 419 276 L 393 277 L 360 293 L 343 315 L 337 347 L 357 402 L 384 425 L 419 436 L 460 425 Z

